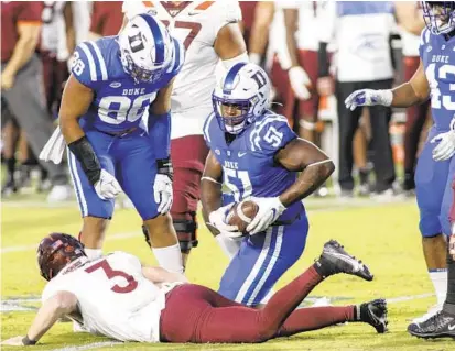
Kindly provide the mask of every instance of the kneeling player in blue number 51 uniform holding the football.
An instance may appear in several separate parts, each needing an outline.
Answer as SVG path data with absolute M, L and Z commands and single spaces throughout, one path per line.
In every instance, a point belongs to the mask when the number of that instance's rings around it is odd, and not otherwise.
M 284 117 L 268 110 L 269 96 L 262 68 L 236 64 L 216 86 L 214 113 L 204 125 L 210 152 L 202 178 L 203 212 L 231 257 L 219 293 L 248 306 L 268 299 L 301 256 L 308 231 L 302 199 L 335 168 L 324 152 L 297 138 Z M 221 185 L 231 191 L 230 204 L 228 197 L 223 200 Z M 234 241 L 242 233 L 226 223 L 226 213 L 245 199 L 257 202 L 259 211 L 248 235 Z

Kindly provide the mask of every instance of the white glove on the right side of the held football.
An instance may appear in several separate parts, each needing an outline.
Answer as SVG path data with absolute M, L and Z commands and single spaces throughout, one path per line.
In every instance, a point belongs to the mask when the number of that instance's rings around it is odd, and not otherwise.
M 250 235 L 267 230 L 286 209 L 279 197 L 251 197 L 251 200 L 258 204 L 259 211 L 247 227 Z

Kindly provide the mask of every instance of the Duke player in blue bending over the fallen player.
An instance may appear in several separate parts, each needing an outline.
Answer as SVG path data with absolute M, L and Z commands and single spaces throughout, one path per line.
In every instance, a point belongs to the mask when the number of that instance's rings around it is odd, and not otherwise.
M 150 233 L 160 265 L 183 271 L 167 213 L 170 97 L 183 62 L 183 45 L 150 14 L 134 17 L 117 36 L 76 47 L 59 127 L 84 219 L 80 240 L 89 257 L 101 255 L 113 199 L 123 190 Z

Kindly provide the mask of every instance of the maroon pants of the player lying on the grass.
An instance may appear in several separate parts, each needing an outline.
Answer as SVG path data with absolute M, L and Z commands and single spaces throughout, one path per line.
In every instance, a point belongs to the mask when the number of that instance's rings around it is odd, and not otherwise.
M 195 343 L 262 342 L 354 320 L 355 306 L 295 310 L 322 279 L 312 266 L 277 292 L 262 309 L 242 306 L 201 285 L 180 285 L 166 295 L 160 339 Z

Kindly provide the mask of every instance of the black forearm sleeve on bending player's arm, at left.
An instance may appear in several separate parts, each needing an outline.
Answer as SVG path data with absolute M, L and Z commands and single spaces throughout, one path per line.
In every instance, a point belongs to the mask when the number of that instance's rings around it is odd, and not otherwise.
M 88 182 L 95 186 L 101 174 L 101 165 L 87 136 L 83 136 L 68 144 L 68 149 L 80 163 Z

